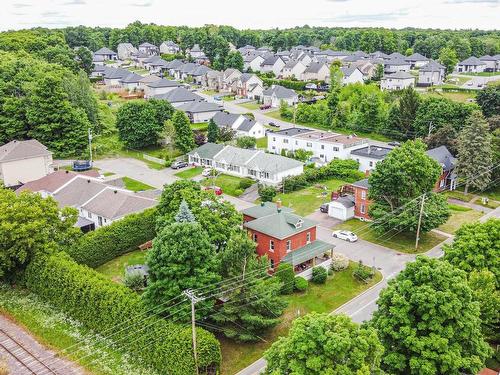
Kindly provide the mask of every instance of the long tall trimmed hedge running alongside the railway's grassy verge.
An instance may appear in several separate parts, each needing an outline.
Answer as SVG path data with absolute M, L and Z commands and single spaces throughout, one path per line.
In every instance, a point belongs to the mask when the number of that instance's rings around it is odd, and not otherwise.
M 110 339 L 144 367 L 169 375 L 195 373 L 189 327 L 148 315 L 139 295 L 75 263 L 68 254 L 35 259 L 26 269 L 24 282 L 89 329 L 103 336 L 114 334 Z M 203 329 L 197 329 L 197 338 L 199 367 L 218 367 L 218 341 Z

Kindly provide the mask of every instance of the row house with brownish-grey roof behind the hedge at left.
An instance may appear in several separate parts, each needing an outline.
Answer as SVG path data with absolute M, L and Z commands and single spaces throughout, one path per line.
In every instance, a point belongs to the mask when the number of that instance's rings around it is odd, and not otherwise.
M 16 192 L 39 192 L 51 196 L 59 207 L 74 207 L 78 210 L 76 226 L 84 232 L 111 224 L 123 217 L 155 206 L 155 199 L 141 193 L 104 183 L 91 174 L 76 174 L 58 171 L 28 183 Z

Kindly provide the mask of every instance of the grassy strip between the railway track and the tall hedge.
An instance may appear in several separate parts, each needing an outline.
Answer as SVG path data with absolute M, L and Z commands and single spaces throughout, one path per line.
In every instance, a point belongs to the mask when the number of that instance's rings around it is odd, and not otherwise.
M 27 329 L 41 344 L 62 356 L 62 350 L 78 345 L 64 357 L 95 375 L 153 375 L 154 371 L 137 367 L 131 357 L 80 323 L 24 289 L 0 284 L 0 312 Z M 84 345 L 82 345 L 84 344 Z M 77 348 L 79 350 L 77 350 Z M 97 355 L 96 355 L 97 354 Z

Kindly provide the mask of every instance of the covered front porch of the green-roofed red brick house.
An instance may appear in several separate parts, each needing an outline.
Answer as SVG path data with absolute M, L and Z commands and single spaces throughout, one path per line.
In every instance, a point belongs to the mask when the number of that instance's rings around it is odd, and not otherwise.
M 330 268 L 334 247 L 333 244 L 316 240 L 288 253 L 282 262 L 290 263 L 296 276 L 310 280 L 314 267 L 323 267 L 326 270 Z

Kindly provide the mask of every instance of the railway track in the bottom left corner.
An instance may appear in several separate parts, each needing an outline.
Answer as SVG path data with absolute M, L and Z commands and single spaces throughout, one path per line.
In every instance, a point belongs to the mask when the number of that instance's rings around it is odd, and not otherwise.
M 40 361 L 26 346 L 0 328 L 0 351 L 2 349 L 20 364 L 19 375 L 59 375 Z M 13 373 L 13 375 L 18 375 L 18 373 Z

